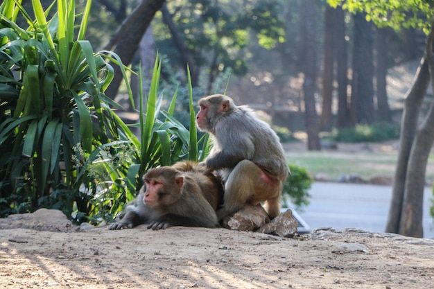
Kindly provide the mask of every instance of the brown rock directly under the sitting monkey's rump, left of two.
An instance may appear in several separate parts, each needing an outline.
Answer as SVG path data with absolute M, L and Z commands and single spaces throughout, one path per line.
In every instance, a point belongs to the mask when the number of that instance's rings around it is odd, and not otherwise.
M 270 218 L 261 204 L 257 206 L 246 204 L 243 209 L 223 218 L 222 226 L 226 229 L 238 231 L 256 231 L 269 221 Z

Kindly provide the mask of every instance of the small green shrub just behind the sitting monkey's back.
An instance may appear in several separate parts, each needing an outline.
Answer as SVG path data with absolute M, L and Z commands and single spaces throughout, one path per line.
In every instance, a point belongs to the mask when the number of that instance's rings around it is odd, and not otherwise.
M 309 204 L 309 198 L 311 197 L 309 189 L 311 189 L 313 179 L 306 168 L 295 164 L 289 164 L 288 166 L 291 173 L 284 183 L 282 193 L 284 207 L 286 201 L 290 201 L 295 205 L 296 209 L 302 209 L 302 207 Z

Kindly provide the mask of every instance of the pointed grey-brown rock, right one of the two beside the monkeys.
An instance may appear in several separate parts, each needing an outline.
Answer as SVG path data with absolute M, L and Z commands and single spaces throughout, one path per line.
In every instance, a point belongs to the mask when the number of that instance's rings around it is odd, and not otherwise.
M 266 225 L 259 228 L 259 232 L 291 238 L 297 232 L 298 221 L 293 216 L 290 209 L 272 219 Z

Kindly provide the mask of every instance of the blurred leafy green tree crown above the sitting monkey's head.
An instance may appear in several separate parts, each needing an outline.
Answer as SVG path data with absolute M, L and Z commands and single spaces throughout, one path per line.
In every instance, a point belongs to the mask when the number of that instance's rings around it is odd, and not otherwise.
M 228 68 L 245 75 L 252 42 L 272 49 L 284 41 L 280 8 L 279 0 L 169 2 L 154 26 L 157 47 L 174 67 L 185 70 L 189 64 L 193 86 L 205 72 L 210 92 L 216 77 Z

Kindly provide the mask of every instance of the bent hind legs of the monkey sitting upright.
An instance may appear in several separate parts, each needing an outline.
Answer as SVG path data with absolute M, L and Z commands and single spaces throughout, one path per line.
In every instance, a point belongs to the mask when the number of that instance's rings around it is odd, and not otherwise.
M 271 218 L 279 215 L 281 183 L 270 179 L 252 161 L 240 161 L 230 173 L 225 184 L 225 207 L 217 211 L 218 220 L 235 213 L 244 204 L 266 202 Z

